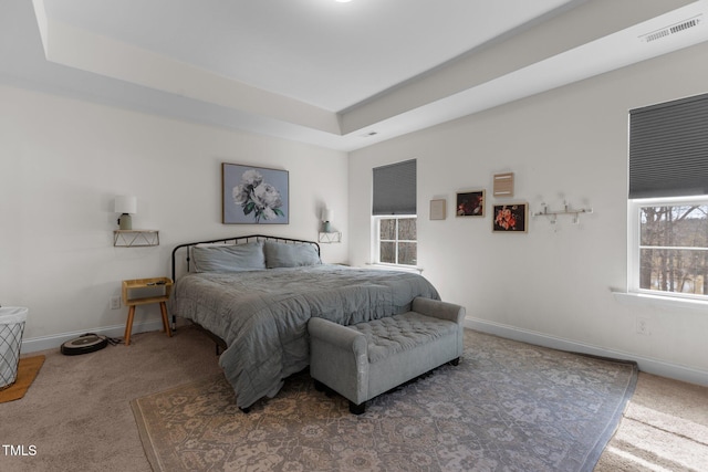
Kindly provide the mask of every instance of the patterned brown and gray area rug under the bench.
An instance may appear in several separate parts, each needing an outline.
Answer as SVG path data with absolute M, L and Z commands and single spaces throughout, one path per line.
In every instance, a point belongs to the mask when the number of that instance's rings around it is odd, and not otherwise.
M 634 364 L 466 329 L 459 366 L 366 413 L 306 373 L 241 412 L 222 376 L 132 402 L 156 471 L 592 471 L 636 385 Z

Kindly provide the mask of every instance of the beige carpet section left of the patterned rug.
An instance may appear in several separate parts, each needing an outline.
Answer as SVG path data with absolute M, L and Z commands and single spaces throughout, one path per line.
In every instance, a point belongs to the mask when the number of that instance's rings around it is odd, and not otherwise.
M 214 344 L 187 328 L 80 356 L 41 354 L 46 360 L 24 398 L 0 403 L 2 444 L 35 453 L 0 449 L 0 471 L 149 472 L 131 400 L 220 371 Z

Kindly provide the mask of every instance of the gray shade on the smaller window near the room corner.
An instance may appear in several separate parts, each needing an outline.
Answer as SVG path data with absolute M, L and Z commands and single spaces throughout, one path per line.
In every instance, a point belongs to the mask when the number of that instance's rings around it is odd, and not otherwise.
M 416 160 L 374 168 L 372 214 L 416 214 Z

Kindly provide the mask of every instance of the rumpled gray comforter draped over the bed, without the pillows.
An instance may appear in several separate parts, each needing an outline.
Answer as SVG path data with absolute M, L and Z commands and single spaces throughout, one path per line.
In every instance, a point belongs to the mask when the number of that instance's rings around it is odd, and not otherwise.
M 416 296 L 439 300 L 415 273 L 323 264 L 188 274 L 175 284 L 169 308 L 226 340 L 219 365 L 247 408 L 308 366 L 311 316 L 351 325 L 404 313 Z

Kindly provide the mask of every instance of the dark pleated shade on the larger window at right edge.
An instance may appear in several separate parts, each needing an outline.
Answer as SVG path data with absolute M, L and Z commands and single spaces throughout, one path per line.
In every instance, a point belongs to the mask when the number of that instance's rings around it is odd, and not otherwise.
M 708 195 L 708 94 L 629 112 L 629 198 Z

